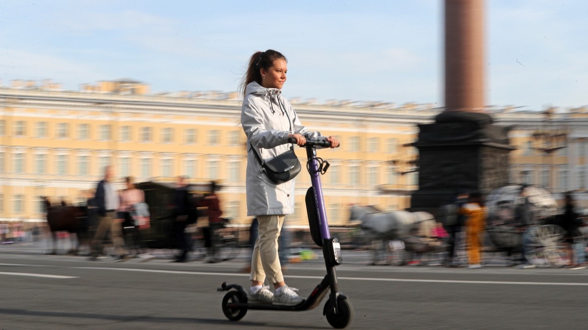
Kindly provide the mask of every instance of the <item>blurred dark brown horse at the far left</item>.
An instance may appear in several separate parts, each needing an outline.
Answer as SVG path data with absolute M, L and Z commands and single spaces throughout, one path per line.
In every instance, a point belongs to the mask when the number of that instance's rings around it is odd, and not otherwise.
M 57 253 L 58 231 L 67 231 L 76 234 L 76 240 L 72 237 L 72 249 L 70 254 L 78 254 L 82 244 L 88 244 L 88 214 L 85 206 L 52 206 L 46 202 L 47 223 L 53 237 L 53 251 Z

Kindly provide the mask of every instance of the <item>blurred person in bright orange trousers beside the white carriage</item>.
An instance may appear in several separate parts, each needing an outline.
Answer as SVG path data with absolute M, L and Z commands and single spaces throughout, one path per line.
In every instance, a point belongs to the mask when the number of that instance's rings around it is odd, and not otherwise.
M 480 250 L 482 249 L 482 231 L 486 222 L 486 208 L 483 207 L 482 195 L 472 193 L 467 204 L 459 210 L 466 219 L 467 258 L 470 268 L 482 268 Z

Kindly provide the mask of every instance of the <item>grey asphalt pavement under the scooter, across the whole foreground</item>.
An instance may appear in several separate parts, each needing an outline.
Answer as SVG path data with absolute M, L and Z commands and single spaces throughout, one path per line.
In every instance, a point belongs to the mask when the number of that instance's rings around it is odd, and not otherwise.
M 304 312 L 221 310 L 223 281 L 248 287 L 235 260 L 149 262 L 47 255 L 44 244 L 0 245 L 0 329 L 330 329 L 322 305 Z M 355 310 L 349 329 L 588 329 L 588 270 L 372 266 L 343 251 L 340 288 Z M 321 260 L 290 264 L 286 282 L 308 295 Z

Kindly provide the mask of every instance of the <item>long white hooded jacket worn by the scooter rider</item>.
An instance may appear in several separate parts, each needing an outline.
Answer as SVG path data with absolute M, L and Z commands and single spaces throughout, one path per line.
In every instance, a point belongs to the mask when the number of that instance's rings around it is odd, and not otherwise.
M 292 214 L 294 180 L 282 184 L 269 180 L 265 173 L 260 173 L 262 167 L 252 148 L 263 161 L 270 160 L 290 149 L 288 134 L 309 131 L 300 123 L 288 100 L 282 97 L 282 90 L 265 88 L 256 82 L 245 87 L 241 124 L 247 135 L 247 215 Z M 309 133 L 313 138 L 320 136 L 319 132 Z M 298 175 L 304 175 L 303 172 Z

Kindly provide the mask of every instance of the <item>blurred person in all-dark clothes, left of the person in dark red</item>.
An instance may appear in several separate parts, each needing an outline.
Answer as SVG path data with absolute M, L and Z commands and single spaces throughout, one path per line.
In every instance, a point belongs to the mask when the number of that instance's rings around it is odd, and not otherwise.
M 178 177 L 176 188 L 173 193 L 173 228 L 172 238 L 178 245 L 179 254 L 173 262 L 188 261 L 188 252 L 191 247 L 191 239 L 186 234 L 186 227 L 190 223 L 191 203 L 188 183 L 183 176 Z

